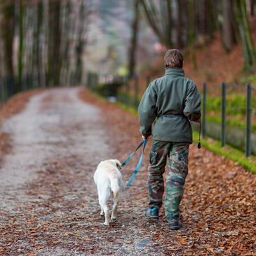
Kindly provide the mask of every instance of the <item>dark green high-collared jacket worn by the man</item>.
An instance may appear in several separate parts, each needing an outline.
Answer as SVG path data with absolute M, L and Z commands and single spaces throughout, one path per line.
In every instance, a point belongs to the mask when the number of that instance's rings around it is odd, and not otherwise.
M 149 84 L 140 101 L 140 132 L 154 140 L 192 143 L 190 121 L 200 119 L 200 105 L 196 85 L 184 70 L 168 68 Z

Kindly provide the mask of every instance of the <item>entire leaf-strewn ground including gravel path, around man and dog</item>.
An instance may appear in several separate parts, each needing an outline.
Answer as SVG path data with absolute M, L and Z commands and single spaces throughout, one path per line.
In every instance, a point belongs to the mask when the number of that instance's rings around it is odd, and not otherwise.
M 194 145 L 182 229 L 170 231 L 163 210 L 157 221 L 144 217 L 150 142 L 118 220 L 103 226 L 93 173 L 135 148 L 137 117 L 82 88 L 32 95 L 8 102 L 11 116 L 1 110 L 0 255 L 255 255 L 256 176 Z

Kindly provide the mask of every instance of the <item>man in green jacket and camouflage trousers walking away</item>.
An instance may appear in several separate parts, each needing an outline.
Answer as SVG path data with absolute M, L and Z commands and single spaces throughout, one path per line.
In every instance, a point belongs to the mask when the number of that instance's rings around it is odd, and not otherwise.
M 149 84 L 138 108 L 142 137 L 153 137 L 146 216 L 159 217 L 163 173 L 168 159 L 165 215 L 170 229 L 180 229 L 180 201 L 188 173 L 189 144 L 192 143 L 190 121 L 201 122 L 201 97 L 194 82 L 184 76 L 184 58 L 180 50 L 168 50 L 164 61 L 165 75 Z

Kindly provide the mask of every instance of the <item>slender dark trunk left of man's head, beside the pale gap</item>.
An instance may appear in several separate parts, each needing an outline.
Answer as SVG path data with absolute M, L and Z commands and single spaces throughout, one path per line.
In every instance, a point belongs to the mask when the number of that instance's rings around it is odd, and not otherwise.
M 132 36 L 130 38 L 130 46 L 128 49 L 128 77 L 132 78 L 135 72 L 136 50 L 137 50 L 137 34 L 139 30 L 140 20 L 140 0 L 134 0 L 134 17 L 132 23 Z

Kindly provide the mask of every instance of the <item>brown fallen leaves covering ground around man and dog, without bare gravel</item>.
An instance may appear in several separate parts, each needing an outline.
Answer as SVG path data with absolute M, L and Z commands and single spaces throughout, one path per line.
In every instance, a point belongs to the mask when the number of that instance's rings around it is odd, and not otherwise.
M 141 140 L 137 117 L 86 90 L 81 90 L 79 97 L 101 109 L 101 124 L 92 123 L 106 130 L 100 139 L 107 141 L 107 156 L 125 159 Z M 48 99 L 52 100 L 54 97 Z M 83 140 L 86 131 L 81 129 L 83 126 L 75 123 L 65 127 L 62 132 L 70 138 L 62 147 L 75 147 L 77 140 L 72 134 Z M 123 195 L 118 220 L 110 227 L 102 225 L 92 179 L 99 159 L 68 150 L 45 159 L 36 179 L 21 188 L 27 201 L 17 202 L 11 212 L 0 211 L 0 254 L 255 255 L 256 176 L 237 163 L 191 145 L 181 203 L 184 226 L 170 231 L 163 209 L 157 221 L 144 217 L 149 146 L 140 173 Z M 137 158 L 123 168 L 125 182 Z

